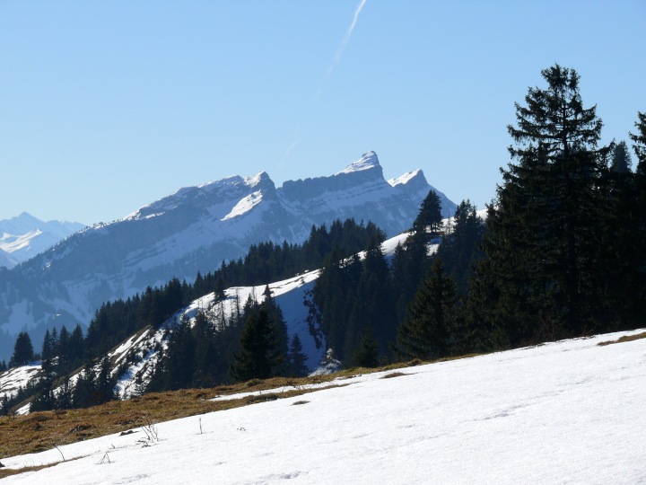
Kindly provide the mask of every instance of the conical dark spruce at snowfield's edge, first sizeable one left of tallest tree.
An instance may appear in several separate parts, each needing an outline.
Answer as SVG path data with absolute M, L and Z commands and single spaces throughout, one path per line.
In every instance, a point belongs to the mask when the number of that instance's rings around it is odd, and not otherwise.
M 397 331 L 395 353 L 400 360 L 432 360 L 450 354 L 457 319 L 458 296 L 453 280 L 441 260 L 433 262 L 431 275 L 423 282 L 408 308 L 408 318 Z

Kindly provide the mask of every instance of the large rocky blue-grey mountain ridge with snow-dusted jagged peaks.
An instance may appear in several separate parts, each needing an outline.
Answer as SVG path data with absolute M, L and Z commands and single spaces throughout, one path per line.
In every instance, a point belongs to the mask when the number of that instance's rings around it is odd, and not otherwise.
M 0 273 L 0 331 L 82 325 L 105 301 L 142 292 L 173 277 L 195 278 L 253 243 L 302 242 L 312 225 L 334 219 L 371 220 L 388 235 L 408 228 L 433 189 L 418 170 L 386 181 L 373 152 L 327 177 L 285 181 L 266 172 L 230 177 L 174 194 L 124 219 L 74 234 L 20 267 Z M 444 215 L 455 204 L 441 192 Z M 0 356 L 10 354 L 9 343 Z M 0 346 L 1 347 L 1 346 Z

